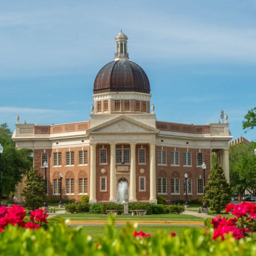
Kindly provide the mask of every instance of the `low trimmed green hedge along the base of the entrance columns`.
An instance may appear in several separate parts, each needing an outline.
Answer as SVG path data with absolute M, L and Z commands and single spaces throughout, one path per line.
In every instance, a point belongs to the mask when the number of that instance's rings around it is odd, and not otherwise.
M 150 204 L 147 202 L 133 202 L 128 204 L 129 210 L 147 210 L 147 215 L 151 214 L 165 214 L 165 213 L 182 213 L 183 206 L 178 205 L 163 205 L 163 204 Z M 106 210 L 124 210 L 123 204 L 116 203 L 78 203 L 66 204 L 65 210 L 70 213 L 100 213 L 107 214 Z M 121 211 L 119 212 L 121 214 Z

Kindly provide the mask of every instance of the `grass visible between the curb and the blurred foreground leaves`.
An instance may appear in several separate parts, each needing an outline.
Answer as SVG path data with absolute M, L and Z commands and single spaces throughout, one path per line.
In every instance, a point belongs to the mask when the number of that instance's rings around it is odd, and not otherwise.
M 70 228 L 74 228 L 74 226 L 70 226 Z M 83 229 L 86 230 L 87 234 L 92 237 L 92 240 L 96 242 L 97 237 L 102 237 L 105 234 L 105 226 L 83 226 Z M 115 226 L 117 230 L 117 234 L 121 232 L 124 228 L 123 226 Z M 179 236 L 184 232 L 186 228 L 191 228 L 189 226 L 138 226 L 136 231 L 142 230 L 146 234 L 155 235 L 158 230 L 164 230 L 167 234 L 171 234 L 171 232 L 175 232 L 176 236 Z M 200 228 L 200 227 L 196 227 Z

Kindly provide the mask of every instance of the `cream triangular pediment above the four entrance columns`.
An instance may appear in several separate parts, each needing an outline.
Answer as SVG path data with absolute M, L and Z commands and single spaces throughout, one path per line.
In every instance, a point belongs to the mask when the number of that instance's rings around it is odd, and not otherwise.
M 107 122 L 99 124 L 89 130 L 87 133 L 159 133 L 154 127 L 143 124 L 129 117 L 116 117 Z

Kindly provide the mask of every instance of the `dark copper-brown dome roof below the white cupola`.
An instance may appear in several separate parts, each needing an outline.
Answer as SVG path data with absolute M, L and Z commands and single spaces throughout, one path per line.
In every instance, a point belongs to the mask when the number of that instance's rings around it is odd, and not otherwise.
M 93 89 L 94 93 L 110 91 L 150 93 L 147 74 L 132 61 L 111 61 L 98 72 Z

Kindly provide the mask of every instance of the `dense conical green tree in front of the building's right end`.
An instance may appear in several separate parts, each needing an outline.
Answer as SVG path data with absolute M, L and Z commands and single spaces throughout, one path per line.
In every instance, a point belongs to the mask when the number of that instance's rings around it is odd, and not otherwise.
M 230 202 L 231 191 L 221 165 L 211 168 L 205 191 L 203 201 L 212 211 L 220 213 Z

